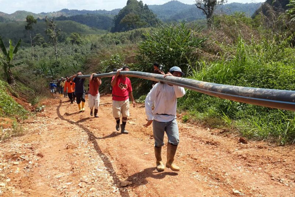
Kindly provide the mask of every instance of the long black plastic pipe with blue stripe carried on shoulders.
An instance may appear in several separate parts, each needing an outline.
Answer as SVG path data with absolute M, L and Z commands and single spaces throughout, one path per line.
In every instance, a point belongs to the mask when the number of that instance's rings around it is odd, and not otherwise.
M 156 82 L 165 82 L 171 85 L 195 90 L 200 93 L 216 96 L 221 99 L 295 111 L 295 91 L 229 86 L 172 76 L 167 76 L 164 78 L 161 74 L 144 73 L 138 71 L 121 71 L 120 74 L 130 77 L 148 79 Z M 96 74 L 94 77 L 104 78 L 112 77 L 114 75 L 116 75 L 116 72 Z M 91 75 L 78 75 L 79 78 L 89 78 L 90 76 Z

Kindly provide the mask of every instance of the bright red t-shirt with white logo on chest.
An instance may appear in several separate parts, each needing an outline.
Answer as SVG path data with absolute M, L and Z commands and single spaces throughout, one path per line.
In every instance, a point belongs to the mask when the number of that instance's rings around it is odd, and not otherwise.
M 113 76 L 112 81 L 115 76 Z M 115 86 L 113 86 L 112 94 L 114 101 L 124 101 L 129 99 L 129 92 L 132 91 L 131 82 L 129 78 L 123 79 L 120 75 L 117 77 Z

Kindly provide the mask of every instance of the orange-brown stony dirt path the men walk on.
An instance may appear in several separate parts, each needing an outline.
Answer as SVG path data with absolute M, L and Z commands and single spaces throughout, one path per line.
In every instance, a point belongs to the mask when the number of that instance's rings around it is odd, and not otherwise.
M 44 112 L 24 122 L 25 135 L 0 144 L 0 196 L 294 197 L 293 146 L 241 144 L 179 119 L 181 171 L 158 173 L 152 128 L 142 127 L 144 106 L 131 108 L 130 133 L 121 135 L 111 102 L 102 96 L 100 117 L 93 118 L 68 99 L 48 99 Z M 165 155 L 166 147 L 164 162 Z M 120 187 L 125 180 L 132 184 Z

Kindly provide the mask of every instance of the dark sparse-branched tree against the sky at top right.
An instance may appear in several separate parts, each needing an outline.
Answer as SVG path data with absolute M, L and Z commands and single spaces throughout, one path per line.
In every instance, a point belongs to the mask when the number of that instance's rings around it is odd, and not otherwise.
M 203 11 L 207 18 L 208 26 L 211 25 L 211 17 L 217 6 L 226 3 L 227 0 L 196 0 L 196 6 Z

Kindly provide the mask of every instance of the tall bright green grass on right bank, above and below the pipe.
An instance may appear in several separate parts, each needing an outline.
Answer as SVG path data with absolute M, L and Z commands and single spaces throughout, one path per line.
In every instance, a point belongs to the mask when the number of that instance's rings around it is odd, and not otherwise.
M 246 43 L 242 35 L 231 50 L 232 58 L 199 61 L 199 70 L 189 78 L 235 86 L 295 90 L 293 48 L 285 41 L 261 40 Z M 253 139 L 272 139 L 281 145 L 295 141 L 294 112 L 219 99 L 188 90 L 179 99 L 182 110 L 214 127 L 231 126 Z M 214 119 L 212 119 L 214 117 Z M 219 120 L 218 120 L 219 119 Z

